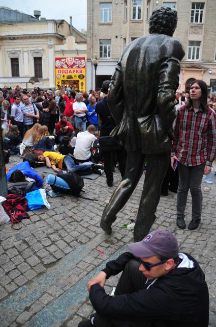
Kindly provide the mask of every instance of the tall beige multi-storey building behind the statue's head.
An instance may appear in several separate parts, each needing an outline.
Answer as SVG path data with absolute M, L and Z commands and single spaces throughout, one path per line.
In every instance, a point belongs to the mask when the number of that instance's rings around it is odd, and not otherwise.
M 178 91 L 188 91 L 195 79 L 216 91 L 215 0 L 87 0 L 87 87 L 95 87 L 91 58 L 98 57 L 96 86 L 111 77 L 122 48 L 148 34 L 151 12 L 162 6 L 178 12 L 174 37 L 186 52 L 181 62 Z

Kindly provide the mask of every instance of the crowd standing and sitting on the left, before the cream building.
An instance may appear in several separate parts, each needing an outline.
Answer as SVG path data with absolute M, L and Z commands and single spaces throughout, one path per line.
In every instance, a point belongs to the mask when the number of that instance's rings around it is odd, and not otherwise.
M 64 167 L 70 165 L 71 169 L 73 166 L 74 171 L 83 174 L 85 168 L 88 173 L 101 174 L 103 157 L 101 154 L 96 156 L 95 152 L 96 149 L 99 152 L 101 129 L 96 105 L 107 95 L 108 86 L 109 81 L 106 93 L 101 89 L 79 92 L 70 87 L 59 87 L 54 92 L 37 87 L 28 91 L 18 85 L 16 89 L 4 87 L 0 90 L 4 154 L 7 157 L 20 154 L 24 158 L 32 153 L 46 163 L 44 154 L 48 154 L 48 166 L 50 162 L 56 162 L 51 165 L 54 171 L 64 164 Z M 64 160 L 57 154 L 65 156 Z M 60 163 L 57 163 L 58 159 Z M 95 166 L 84 165 L 88 161 Z M 98 162 L 99 166 L 96 166 Z M 112 170 L 114 162 L 115 157 L 112 158 Z M 82 168 L 76 167 L 79 163 Z

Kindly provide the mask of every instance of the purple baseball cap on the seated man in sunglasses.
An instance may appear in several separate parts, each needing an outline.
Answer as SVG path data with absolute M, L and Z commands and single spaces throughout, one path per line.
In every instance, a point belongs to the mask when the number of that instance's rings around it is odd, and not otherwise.
M 148 258 L 160 255 L 175 258 L 178 255 L 178 242 L 171 232 L 156 230 L 149 233 L 141 242 L 128 244 L 132 254 L 138 258 Z

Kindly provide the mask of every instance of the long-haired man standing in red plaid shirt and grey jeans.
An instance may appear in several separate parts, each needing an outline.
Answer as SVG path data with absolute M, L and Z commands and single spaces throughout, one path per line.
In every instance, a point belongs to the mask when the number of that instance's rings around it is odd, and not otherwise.
M 194 81 L 186 106 L 177 114 L 172 143 L 171 167 L 178 163 L 177 226 L 186 228 L 184 210 L 188 191 L 192 195 L 192 220 L 189 230 L 198 228 L 202 212 L 201 183 L 203 174 L 211 171 L 216 151 L 216 116 L 207 107 L 207 85 Z

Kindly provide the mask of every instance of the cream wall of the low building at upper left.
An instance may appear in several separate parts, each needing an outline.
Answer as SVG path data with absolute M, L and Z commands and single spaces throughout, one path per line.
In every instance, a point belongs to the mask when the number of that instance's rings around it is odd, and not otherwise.
M 55 20 L 0 23 L 0 76 L 11 77 L 11 58 L 18 58 L 19 76 L 32 77 L 34 57 L 42 57 L 43 78 L 39 86 L 54 87 L 55 51 L 61 50 L 61 56 L 63 50 L 70 51 L 68 57 L 78 56 L 80 51 L 79 55 L 86 57 L 86 44 L 79 43 L 85 42 L 85 38 L 76 29 L 73 36 L 69 34 L 70 25 L 65 20 L 61 24 Z

